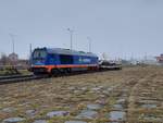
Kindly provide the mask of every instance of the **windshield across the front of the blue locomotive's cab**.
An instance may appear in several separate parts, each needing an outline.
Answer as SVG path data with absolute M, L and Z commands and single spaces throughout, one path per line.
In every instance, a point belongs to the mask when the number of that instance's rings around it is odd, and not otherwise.
M 35 50 L 33 58 L 34 59 L 46 59 L 47 52 L 45 50 Z

